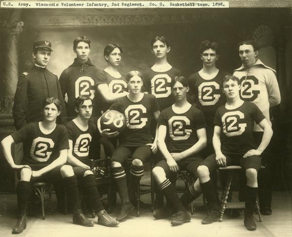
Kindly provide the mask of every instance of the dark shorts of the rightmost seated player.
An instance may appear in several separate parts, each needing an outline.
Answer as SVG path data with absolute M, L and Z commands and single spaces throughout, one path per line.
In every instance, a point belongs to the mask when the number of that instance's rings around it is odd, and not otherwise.
M 224 154 L 224 153 L 223 153 Z M 240 165 L 245 170 L 253 168 L 258 171 L 261 167 L 261 158 L 259 156 L 249 156 L 243 158 L 243 155 L 228 155 L 224 154 L 226 157 L 226 165 Z M 208 156 L 201 165 L 205 165 L 208 167 L 209 172 L 213 173 L 216 169 L 219 168 L 216 163 L 216 155 L 212 154 Z

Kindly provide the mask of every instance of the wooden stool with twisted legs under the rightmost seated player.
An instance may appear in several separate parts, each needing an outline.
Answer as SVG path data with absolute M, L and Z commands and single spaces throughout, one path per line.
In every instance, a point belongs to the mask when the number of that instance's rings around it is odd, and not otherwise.
M 221 222 L 225 209 L 245 209 L 245 202 L 244 201 L 227 202 L 227 198 L 228 198 L 231 182 L 233 179 L 233 175 L 235 174 L 235 172 L 241 170 L 241 166 L 230 165 L 230 166 L 226 166 L 226 167 L 219 167 L 219 170 L 228 171 L 228 178 L 227 178 L 226 187 L 225 187 L 225 190 L 223 191 L 222 197 L 221 197 L 221 207 L 220 207 L 221 214 L 220 214 L 220 218 L 219 218 L 219 221 Z M 261 222 L 262 218 L 261 218 L 261 215 L 259 212 L 259 206 L 257 204 L 257 201 L 256 201 L 256 213 L 258 215 L 259 221 Z

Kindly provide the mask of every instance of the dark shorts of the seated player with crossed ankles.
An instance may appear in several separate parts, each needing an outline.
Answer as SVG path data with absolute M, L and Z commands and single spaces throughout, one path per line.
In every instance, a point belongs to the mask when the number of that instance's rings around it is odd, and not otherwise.
M 193 177 L 194 180 L 198 178 L 197 169 L 199 165 L 202 163 L 203 158 L 201 155 L 193 155 L 184 158 L 182 161 L 179 161 L 177 164 L 180 168 L 180 170 L 186 170 L 188 171 Z M 155 165 L 155 167 L 162 167 L 164 169 L 164 172 L 166 174 L 167 179 L 172 179 L 174 176 L 176 176 L 176 172 L 173 172 L 169 169 L 166 160 L 162 160 L 158 162 L 158 164 Z

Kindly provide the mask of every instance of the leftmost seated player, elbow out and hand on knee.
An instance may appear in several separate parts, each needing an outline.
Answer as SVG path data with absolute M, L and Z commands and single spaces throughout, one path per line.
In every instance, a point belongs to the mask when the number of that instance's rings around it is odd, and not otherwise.
M 56 124 L 61 113 L 61 102 L 46 98 L 42 103 L 43 121 L 26 124 L 23 128 L 1 141 L 4 156 L 18 173 L 17 199 L 18 221 L 12 234 L 26 228 L 27 202 L 31 194 L 31 182 L 45 181 L 53 184 L 64 182 L 73 207 L 73 223 L 91 226 L 94 223 L 83 215 L 80 207 L 78 184 L 72 166 L 64 165 L 67 159 L 68 133 L 63 125 Z M 17 165 L 11 155 L 11 145 L 23 142 L 23 159 Z

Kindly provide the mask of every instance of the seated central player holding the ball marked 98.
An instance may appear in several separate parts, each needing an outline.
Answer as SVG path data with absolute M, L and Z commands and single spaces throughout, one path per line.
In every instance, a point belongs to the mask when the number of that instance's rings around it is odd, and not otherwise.
M 157 151 L 157 130 L 154 141 L 151 136 L 151 118 L 158 119 L 160 111 L 154 95 L 141 92 L 143 85 L 142 75 L 138 71 L 131 71 L 126 75 L 129 94 L 119 98 L 110 109 L 123 113 L 126 117 L 126 128 L 120 132 L 119 146 L 111 158 L 113 178 L 118 187 L 122 206 L 117 220 L 127 217 L 128 212 L 134 209 L 129 200 L 134 197 L 137 182 L 144 174 L 144 162 Z M 100 130 L 100 124 L 98 124 Z M 102 131 L 100 130 L 101 134 Z M 123 163 L 132 157 L 131 171 L 127 188 L 126 173 Z

